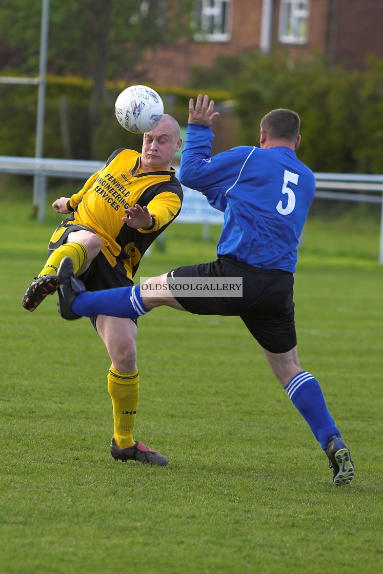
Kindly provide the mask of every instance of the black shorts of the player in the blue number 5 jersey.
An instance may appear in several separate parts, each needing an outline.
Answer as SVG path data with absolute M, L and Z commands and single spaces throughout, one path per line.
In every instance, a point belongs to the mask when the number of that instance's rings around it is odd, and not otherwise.
M 284 353 L 296 346 L 292 273 L 220 257 L 211 263 L 176 267 L 168 277 L 242 277 L 242 297 L 177 297 L 173 290 L 172 294 L 195 315 L 241 317 L 267 351 Z

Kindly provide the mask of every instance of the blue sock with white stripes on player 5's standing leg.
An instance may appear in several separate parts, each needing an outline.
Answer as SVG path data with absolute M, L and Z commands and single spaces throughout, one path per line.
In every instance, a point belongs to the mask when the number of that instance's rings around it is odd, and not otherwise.
M 301 371 L 284 388 L 325 450 L 330 437 L 341 435 L 341 432 L 328 412 L 318 381 L 310 373 Z

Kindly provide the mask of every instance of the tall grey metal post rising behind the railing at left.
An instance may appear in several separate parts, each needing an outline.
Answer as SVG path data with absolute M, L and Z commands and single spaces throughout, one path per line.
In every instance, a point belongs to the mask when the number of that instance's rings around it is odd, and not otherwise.
M 49 30 L 49 0 L 42 0 L 40 64 L 38 73 L 36 144 L 34 157 L 41 158 L 44 148 L 45 87 L 47 85 L 47 52 Z M 33 178 L 33 215 L 41 222 L 45 218 L 47 178 L 36 173 Z M 44 205 L 44 208 L 42 206 Z

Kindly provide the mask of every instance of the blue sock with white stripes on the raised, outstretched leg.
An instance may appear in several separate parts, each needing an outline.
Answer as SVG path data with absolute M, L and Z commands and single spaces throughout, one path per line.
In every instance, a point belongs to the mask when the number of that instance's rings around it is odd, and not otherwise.
M 134 285 L 133 287 L 79 293 L 73 302 L 72 311 L 83 317 L 111 315 L 112 317 L 138 319 L 149 309 L 142 301 L 140 285 Z

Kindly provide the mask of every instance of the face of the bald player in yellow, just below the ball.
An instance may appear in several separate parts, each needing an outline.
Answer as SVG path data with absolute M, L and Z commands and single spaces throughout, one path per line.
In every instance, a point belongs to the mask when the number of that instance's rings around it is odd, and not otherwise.
M 141 167 L 144 171 L 170 169 L 175 153 L 181 147 L 171 122 L 161 122 L 154 130 L 144 134 Z

